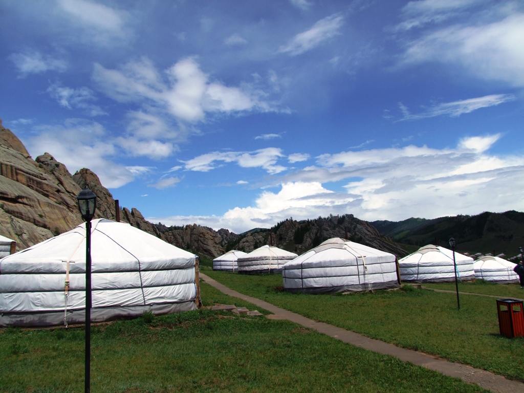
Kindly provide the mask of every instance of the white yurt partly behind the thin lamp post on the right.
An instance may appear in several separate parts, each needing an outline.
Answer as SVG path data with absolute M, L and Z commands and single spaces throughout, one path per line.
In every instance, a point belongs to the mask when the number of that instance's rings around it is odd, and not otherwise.
M 473 258 L 455 252 L 457 279 L 473 280 Z M 450 249 L 429 244 L 398 261 L 400 279 L 416 282 L 455 281 L 453 252 Z

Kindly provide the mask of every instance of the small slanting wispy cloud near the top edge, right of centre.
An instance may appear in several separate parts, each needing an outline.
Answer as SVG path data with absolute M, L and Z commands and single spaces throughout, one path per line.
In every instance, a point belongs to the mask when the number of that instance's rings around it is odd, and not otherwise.
M 344 18 L 340 14 L 333 14 L 316 22 L 309 30 L 297 34 L 285 46 L 281 46 L 279 52 L 289 53 L 291 56 L 307 52 L 323 41 L 340 34 L 340 28 Z

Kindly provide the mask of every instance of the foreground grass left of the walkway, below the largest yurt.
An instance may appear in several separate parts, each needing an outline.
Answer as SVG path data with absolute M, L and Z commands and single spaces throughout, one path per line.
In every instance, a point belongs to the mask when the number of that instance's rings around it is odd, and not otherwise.
M 202 284 L 208 303 L 245 305 Z M 0 330 L 0 391 L 81 392 L 83 328 Z M 92 328 L 93 392 L 481 392 L 289 321 L 199 310 Z

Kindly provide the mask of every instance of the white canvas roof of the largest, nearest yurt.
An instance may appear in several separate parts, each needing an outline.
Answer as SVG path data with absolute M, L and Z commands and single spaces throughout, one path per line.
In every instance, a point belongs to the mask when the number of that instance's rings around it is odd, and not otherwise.
M 173 246 L 127 223 L 97 219 L 91 222 L 93 271 L 134 270 L 154 265 L 194 266 L 194 254 Z M 71 270 L 85 269 L 85 223 L 69 232 L 47 239 L 0 262 L 0 272 L 62 272 L 65 261 Z

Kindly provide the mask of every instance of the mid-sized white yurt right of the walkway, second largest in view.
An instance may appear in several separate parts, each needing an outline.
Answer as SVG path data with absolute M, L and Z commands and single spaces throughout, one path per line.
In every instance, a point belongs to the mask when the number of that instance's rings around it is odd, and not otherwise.
M 395 260 L 393 254 L 335 237 L 285 264 L 283 287 L 294 293 L 398 288 Z

